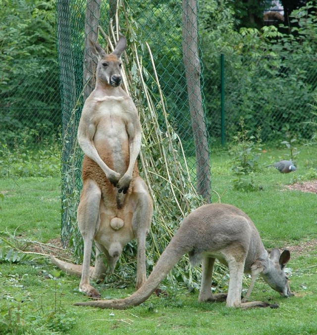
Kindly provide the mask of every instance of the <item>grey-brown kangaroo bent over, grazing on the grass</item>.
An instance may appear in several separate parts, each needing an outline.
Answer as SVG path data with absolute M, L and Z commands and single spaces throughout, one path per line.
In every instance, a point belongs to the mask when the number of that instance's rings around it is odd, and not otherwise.
M 210 204 L 199 207 L 184 219 L 152 274 L 138 291 L 125 299 L 78 302 L 75 305 L 116 309 L 139 305 L 150 297 L 186 253 L 191 264 L 203 262 L 199 301 L 226 300 L 227 307 L 244 309 L 267 307 L 269 304 L 262 301 L 247 302 L 259 274 L 281 296 L 292 295 L 284 272 L 290 259 L 289 251 L 284 250 L 280 254 L 278 249 L 273 249 L 268 258 L 257 228 L 245 213 L 231 205 Z M 229 267 L 228 293 L 211 292 L 215 259 Z M 251 273 L 252 279 L 245 299 L 241 301 L 244 272 Z

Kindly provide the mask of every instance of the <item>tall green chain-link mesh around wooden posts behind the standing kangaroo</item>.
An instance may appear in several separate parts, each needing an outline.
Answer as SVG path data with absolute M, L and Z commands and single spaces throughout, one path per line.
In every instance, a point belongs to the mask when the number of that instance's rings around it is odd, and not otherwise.
M 121 32 L 128 41 L 137 39 L 149 43 L 156 60 L 169 122 L 184 143 L 186 155 L 195 158 L 196 164 L 190 167 L 191 173 L 194 181 L 196 179 L 195 183 L 199 193 L 208 198 L 210 196 L 208 135 L 200 90 L 197 26 L 195 26 L 196 22 L 191 21 L 192 17 L 197 19 L 195 15 L 197 8 L 196 1 L 189 2 L 192 2 L 192 6 L 186 7 L 188 12 L 183 15 L 183 20 L 187 22 L 188 29 L 192 29 L 192 34 L 182 29 L 182 5 L 179 2 L 174 2 L 171 6 L 168 2 L 158 4 L 156 1 L 146 3 L 144 1 L 129 1 L 129 3 L 123 1 L 121 6 L 124 8 L 120 9 L 117 22 L 120 22 Z M 88 1 L 87 6 L 84 0 L 78 0 L 76 3 L 57 1 L 57 46 L 62 74 L 64 141 L 62 200 L 65 235 L 75 215 L 74 206 L 69 201 L 72 201 L 74 190 L 80 191 L 81 189 L 82 155 L 78 152 L 75 140 L 77 127 L 83 102 L 94 86 L 90 78 L 95 64 L 87 52 L 85 41 L 87 37 L 97 40 L 98 31 L 102 30 L 112 37 L 108 27 L 110 20 L 114 19 L 116 5 L 116 1 L 100 3 L 92 0 Z M 190 15 L 191 18 L 189 18 Z M 81 19 L 78 19 L 79 17 Z M 101 36 L 100 41 L 102 41 Z M 100 43 L 105 45 L 104 41 Z M 143 49 L 144 44 L 139 45 L 138 53 L 142 58 L 145 71 L 153 76 L 151 59 Z M 127 53 L 129 53 L 128 49 Z M 133 67 L 135 64 L 128 64 L 128 66 Z M 149 78 L 149 80 L 152 79 Z M 155 90 L 157 91 L 152 94 L 158 96 L 159 91 L 157 88 L 154 88 Z M 160 113 L 159 104 L 158 113 Z M 159 118 L 163 120 L 162 114 L 159 115 Z M 164 132 L 164 126 L 162 132 Z M 69 180 L 72 181 L 72 185 Z

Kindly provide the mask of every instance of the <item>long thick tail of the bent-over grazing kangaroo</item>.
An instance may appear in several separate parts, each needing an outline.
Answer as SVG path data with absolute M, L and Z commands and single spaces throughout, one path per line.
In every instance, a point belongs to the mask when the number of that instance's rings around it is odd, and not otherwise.
M 179 248 L 177 244 L 171 243 L 167 246 L 161 254 L 157 265 L 147 281 L 136 292 L 125 299 L 118 300 L 96 300 L 88 302 L 76 302 L 75 306 L 93 306 L 99 308 L 114 308 L 126 309 L 129 306 L 137 306 L 147 300 L 150 295 L 159 286 L 159 283 L 167 276 L 173 266 L 180 260 L 180 258 L 187 253 L 188 250 Z

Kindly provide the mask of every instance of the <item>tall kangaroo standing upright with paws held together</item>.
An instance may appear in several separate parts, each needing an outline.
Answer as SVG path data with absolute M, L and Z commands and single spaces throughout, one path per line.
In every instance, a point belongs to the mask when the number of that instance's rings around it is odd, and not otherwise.
M 135 237 L 136 288 L 146 281 L 145 242 L 153 205 L 136 161 L 141 149 L 140 119 L 132 99 L 120 87 L 120 56 L 126 44 L 121 36 L 114 51 L 107 55 L 90 40 L 91 50 L 98 57 L 96 87 L 85 101 L 78 127 L 78 142 L 85 154 L 77 211 L 84 239 L 83 265 L 51 257 L 57 267 L 81 275 L 79 290 L 95 298 L 100 294 L 90 285 L 90 277 L 103 279 L 106 270 L 100 254 L 105 254 L 112 272 L 123 247 Z M 96 263 L 90 267 L 93 239 Z

